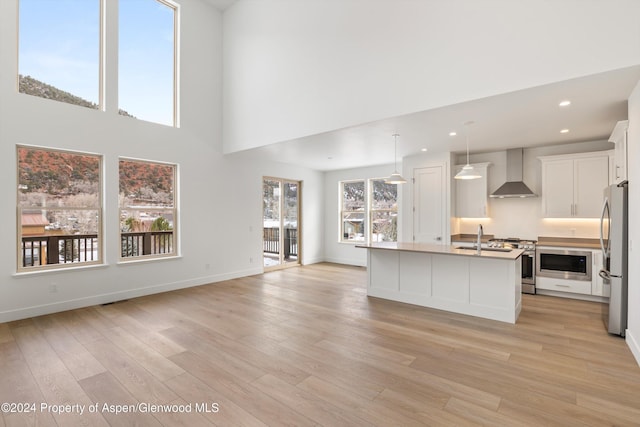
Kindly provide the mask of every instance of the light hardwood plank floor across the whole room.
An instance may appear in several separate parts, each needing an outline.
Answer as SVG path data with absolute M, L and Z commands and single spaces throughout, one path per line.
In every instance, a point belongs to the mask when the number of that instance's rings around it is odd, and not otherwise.
M 637 426 L 600 310 L 524 295 L 509 325 L 367 298 L 363 268 L 274 271 L 0 324 L 0 402 L 36 405 L 0 426 Z

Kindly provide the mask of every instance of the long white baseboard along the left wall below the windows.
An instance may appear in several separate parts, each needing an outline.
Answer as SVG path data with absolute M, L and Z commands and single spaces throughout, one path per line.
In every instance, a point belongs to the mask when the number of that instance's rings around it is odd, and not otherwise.
M 108 294 L 91 295 L 67 301 L 58 301 L 51 304 L 42 304 L 31 307 L 18 308 L 0 312 L 0 323 L 14 320 L 27 319 L 29 317 L 42 316 L 45 314 L 58 313 L 61 311 L 73 310 L 76 308 L 90 307 L 93 305 L 107 304 L 110 302 L 122 301 L 129 298 L 137 298 L 145 295 L 158 294 L 162 292 L 175 291 L 178 289 L 191 288 L 194 286 L 206 285 L 209 283 L 222 282 L 224 280 L 237 279 L 238 277 L 253 276 L 263 273 L 263 268 L 252 268 L 230 273 L 204 276 L 184 281 L 163 283 L 159 285 L 146 286 L 143 288 L 128 289 L 126 291 L 113 292 Z

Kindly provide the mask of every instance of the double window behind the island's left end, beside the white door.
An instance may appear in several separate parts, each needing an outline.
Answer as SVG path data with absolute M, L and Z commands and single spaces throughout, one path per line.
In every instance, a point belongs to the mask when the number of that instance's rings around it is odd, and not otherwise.
M 340 182 L 340 241 L 395 242 L 398 186 L 384 179 Z

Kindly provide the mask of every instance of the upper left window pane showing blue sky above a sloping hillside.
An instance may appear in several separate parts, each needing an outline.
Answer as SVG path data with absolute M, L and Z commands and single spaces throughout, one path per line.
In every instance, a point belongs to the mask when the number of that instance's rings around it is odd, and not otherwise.
M 19 91 L 98 108 L 100 0 L 20 0 Z

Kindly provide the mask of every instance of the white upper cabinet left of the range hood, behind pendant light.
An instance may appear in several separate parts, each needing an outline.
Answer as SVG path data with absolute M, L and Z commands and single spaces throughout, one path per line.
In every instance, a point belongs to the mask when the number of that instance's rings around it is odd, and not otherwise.
M 481 178 L 454 179 L 456 184 L 456 216 L 458 218 L 487 218 L 487 170 L 491 163 L 476 163 L 473 168 Z M 462 165 L 456 166 L 456 173 Z

